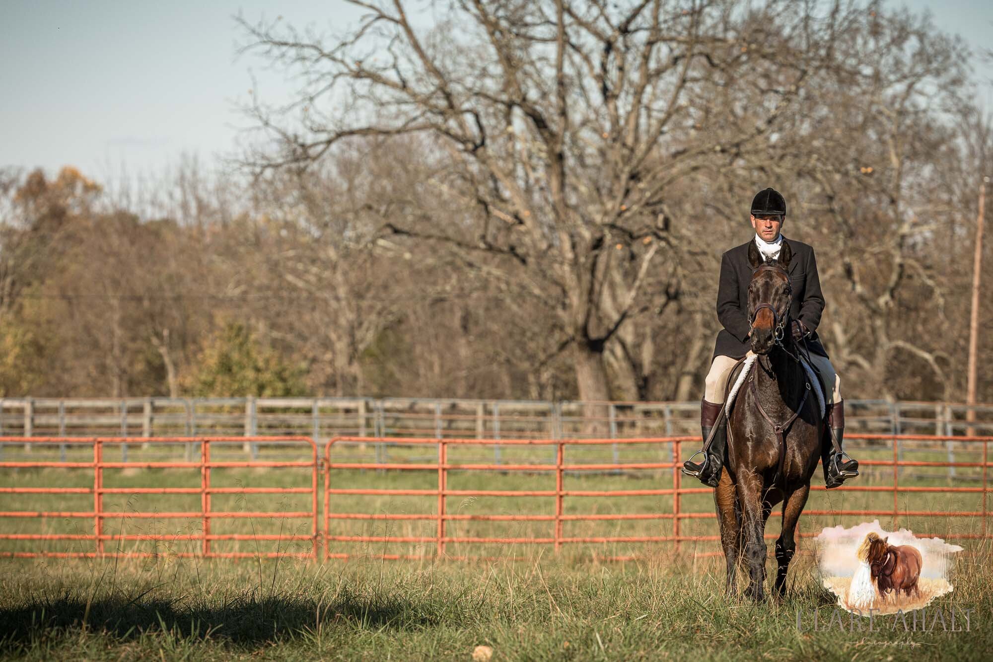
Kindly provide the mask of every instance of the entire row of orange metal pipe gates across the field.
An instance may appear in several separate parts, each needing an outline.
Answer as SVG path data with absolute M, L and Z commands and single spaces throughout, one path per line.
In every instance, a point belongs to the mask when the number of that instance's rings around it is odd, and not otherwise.
M 991 532 L 988 528 L 988 518 L 990 516 L 987 506 L 987 494 L 990 491 L 988 484 L 988 470 L 991 466 L 989 458 L 989 443 L 993 441 L 993 436 L 940 436 L 940 435 L 892 435 L 892 434 L 849 434 L 846 436 L 846 443 L 854 440 L 868 442 L 892 442 L 892 458 L 869 459 L 864 455 L 860 457 L 860 464 L 867 469 L 883 468 L 887 470 L 892 467 L 892 485 L 870 485 L 859 484 L 854 481 L 850 486 L 844 486 L 832 493 L 841 494 L 845 492 L 869 492 L 869 493 L 891 493 L 893 495 L 892 507 L 887 505 L 881 508 L 869 508 L 860 510 L 817 510 L 809 509 L 804 511 L 805 516 L 837 515 L 837 516 L 888 516 L 892 518 L 892 526 L 896 528 L 902 517 L 954 517 L 954 518 L 979 518 L 981 526 L 973 533 L 955 534 L 957 538 L 989 538 Z M 909 445 L 918 442 L 978 442 L 981 444 L 981 461 L 935 461 L 935 460 L 911 460 L 901 457 L 904 450 Z M 300 460 L 243 460 L 243 461 L 216 461 L 211 457 L 212 444 L 216 443 L 272 443 L 272 442 L 295 442 L 303 446 L 307 459 Z M 92 459 L 85 461 L 44 461 L 44 460 L 23 460 L 23 461 L 0 461 L 0 469 L 53 469 L 53 468 L 75 468 L 92 469 L 91 487 L 58 487 L 58 486 L 8 486 L 0 485 L 0 496 L 4 494 L 39 494 L 39 495 L 60 495 L 60 494 L 83 494 L 92 495 L 92 510 L 85 511 L 61 511 L 61 510 L 21 510 L 0 512 L 0 522 L 13 520 L 25 520 L 31 518 L 74 518 L 78 520 L 91 520 L 93 532 L 91 534 L 38 534 L 38 533 L 9 533 L 0 530 L 0 541 L 79 541 L 91 543 L 88 550 L 77 552 L 47 552 L 42 550 L 25 550 L 17 552 L 2 552 L 3 557 L 95 557 L 95 556 L 152 556 L 147 553 L 121 552 L 119 550 L 107 549 L 107 543 L 111 541 L 124 540 L 176 540 L 177 536 L 167 534 L 118 534 L 108 533 L 105 520 L 127 517 L 134 518 L 162 518 L 181 519 L 198 522 L 199 531 L 183 536 L 183 540 L 199 543 L 198 549 L 183 553 L 179 556 L 205 556 L 205 557 L 231 557 L 244 558 L 262 556 L 283 556 L 289 555 L 286 552 L 225 552 L 217 551 L 213 548 L 214 541 L 300 541 L 306 542 L 309 550 L 305 553 L 296 553 L 295 556 L 302 556 L 311 559 L 347 558 L 350 555 L 342 552 L 341 544 L 348 543 L 420 543 L 429 544 L 438 556 L 447 555 L 446 546 L 450 544 L 482 544 L 482 545 L 518 545 L 518 544 L 540 544 L 549 545 L 558 551 L 566 544 L 598 544 L 598 543 L 674 543 L 677 546 L 684 542 L 704 542 L 717 541 L 716 530 L 708 535 L 695 535 L 683 530 L 683 523 L 689 520 L 706 520 L 716 517 L 712 507 L 708 511 L 692 510 L 685 508 L 682 498 L 687 495 L 708 494 L 710 488 L 700 486 L 696 481 L 688 487 L 682 483 L 682 475 L 679 471 L 684 447 L 688 451 L 696 449 L 699 444 L 699 437 L 696 436 L 670 436 L 652 438 L 621 438 L 621 439 L 438 439 L 438 438 L 373 438 L 365 436 L 343 436 L 335 437 L 327 442 L 324 448 L 323 457 L 318 456 L 318 449 L 314 441 L 306 436 L 264 436 L 264 437 L 244 437 L 244 436 L 206 436 L 206 437 L 0 437 L 0 443 L 6 444 L 29 444 L 40 446 L 52 446 L 67 444 L 72 447 L 90 446 Z M 121 444 L 199 444 L 200 457 L 197 460 L 187 461 L 109 461 L 104 457 L 104 449 L 108 445 L 119 446 Z M 333 453 L 336 448 L 343 443 L 359 444 L 398 444 L 402 446 L 427 448 L 435 451 L 434 457 L 430 461 L 418 458 L 417 461 L 336 461 Z M 688 443 L 688 446 L 684 444 Z M 666 461 L 638 461 L 638 462 L 571 462 L 566 461 L 567 447 L 570 449 L 595 449 L 609 444 L 636 444 L 643 448 L 659 447 L 671 449 L 666 453 L 669 457 Z M 554 461 L 550 462 L 452 462 L 449 451 L 453 448 L 479 447 L 479 446 L 528 446 L 533 448 L 544 447 L 554 451 Z M 570 450 L 570 452 L 573 452 Z M 217 487 L 212 486 L 212 469 L 217 468 L 265 468 L 279 469 L 295 467 L 298 469 L 308 469 L 310 474 L 309 486 L 287 487 L 272 485 L 268 487 Z M 928 485 L 907 485 L 901 484 L 900 471 L 905 467 L 955 467 L 969 468 L 973 471 L 972 476 L 975 485 L 966 486 L 956 484 L 952 486 L 928 486 Z M 199 470 L 199 487 L 106 487 L 103 484 L 104 471 L 106 469 L 158 469 L 177 468 Z M 397 488 L 397 487 L 354 487 L 349 485 L 336 484 L 332 480 L 333 471 L 370 471 L 377 472 L 374 476 L 386 477 L 398 471 L 421 471 L 430 472 L 436 476 L 436 482 L 430 488 Z M 602 472 L 624 472 L 638 470 L 669 470 L 671 471 L 671 487 L 658 487 L 647 489 L 625 489 L 625 490 L 588 490 L 588 489 L 566 489 L 564 477 L 571 472 L 602 471 Z M 324 472 L 324 515 L 323 518 L 318 512 L 318 473 Z M 547 489 L 540 490 L 487 490 L 487 489 L 451 489 L 449 487 L 449 475 L 452 471 L 468 472 L 503 472 L 511 474 L 514 472 L 544 472 L 554 477 L 554 483 L 549 480 Z M 819 470 L 814 476 L 812 489 L 815 491 L 824 490 L 819 483 Z M 391 479 L 386 479 L 391 480 Z M 188 494 L 199 495 L 201 508 L 199 511 L 183 512 L 130 512 L 122 513 L 107 510 L 104 506 L 104 495 L 107 494 Z M 901 494 L 909 493 L 935 493 L 935 494 L 967 494 L 974 493 L 980 495 L 981 508 L 977 510 L 901 510 L 898 497 Z M 281 512 L 278 510 L 261 510 L 249 512 L 233 512 L 230 510 L 214 510 L 212 496 L 217 494 L 307 494 L 310 497 L 310 509 L 292 512 Z M 436 505 L 433 512 L 420 513 L 365 513 L 365 512 L 337 512 L 333 507 L 335 502 L 333 497 L 361 497 L 375 495 L 396 495 L 396 496 L 418 496 L 434 498 Z M 573 497 L 595 497 L 595 498 L 618 498 L 626 496 L 658 496 L 668 495 L 671 497 L 671 508 L 665 512 L 642 512 L 642 513 L 616 513 L 616 514 L 567 514 L 564 504 L 567 498 Z M 448 512 L 446 508 L 446 498 L 457 497 L 482 497 L 482 496 L 506 496 L 506 497 L 547 497 L 553 499 L 554 507 L 551 512 L 543 514 L 462 514 L 459 512 Z M 875 504 L 874 504 L 875 505 Z M 780 513 L 773 513 L 778 516 Z M 309 535 L 303 534 L 217 534 L 212 533 L 212 521 L 227 518 L 265 518 L 278 517 L 284 519 L 309 520 Z M 323 519 L 323 527 L 319 527 L 319 520 Z M 432 535 L 430 536 L 373 536 L 367 534 L 348 535 L 343 533 L 336 523 L 348 520 L 353 521 L 426 521 L 433 522 Z M 567 536 L 563 533 L 563 523 L 566 522 L 593 522 L 598 520 L 609 521 L 636 521 L 653 520 L 671 523 L 668 535 L 642 535 L 642 536 Z M 448 524 L 454 521 L 490 521 L 490 522 L 546 522 L 549 524 L 549 533 L 544 536 L 492 536 L 492 537 L 466 537 L 451 535 Z M 801 519 L 801 523 L 802 523 Z M 322 530 L 323 529 L 323 530 Z M 813 532 L 801 532 L 800 536 L 810 537 L 816 535 Z M 926 533 L 924 535 L 927 535 Z M 767 537 L 774 537 L 768 534 Z M 323 544 L 324 551 L 321 554 L 318 550 Z M 719 553 L 716 553 L 719 554 Z M 406 558 L 412 555 L 376 555 L 383 558 Z M 423 555 L 414 555 L 423 556 Z

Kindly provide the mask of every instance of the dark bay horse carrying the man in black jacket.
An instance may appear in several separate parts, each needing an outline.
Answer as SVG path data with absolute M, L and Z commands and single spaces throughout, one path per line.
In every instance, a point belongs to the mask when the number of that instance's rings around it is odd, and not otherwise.
M 774 262 L 764 262 L 754 242 L 749 248 L 754 272 L 748 314 L 752 352 L 758 359 L 729 414 L 728 459 L 714 491 L 727 561 L 726 589 L 734 593 L 736 569 L 744 565 L 749 573 L 745 594 L 756 601 L 766 598 L 766 522 L 780 502 L 776 596 L 785 591 L 786 570 L 796 550 L 796 522 L 827 433 L 816 392 L 789 333 L 791 256 L 786 243 Z

